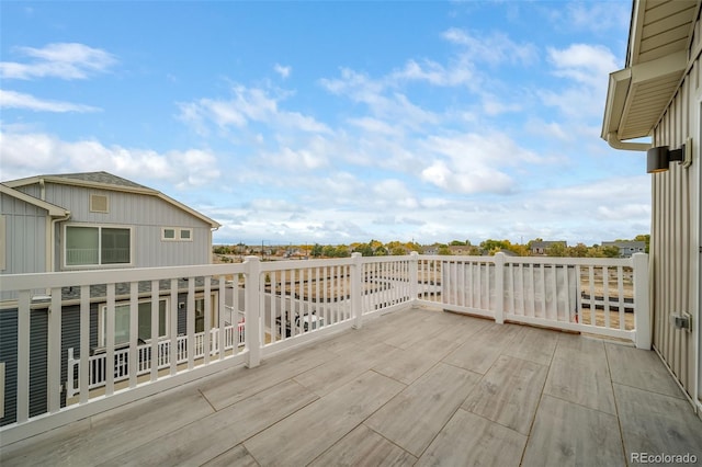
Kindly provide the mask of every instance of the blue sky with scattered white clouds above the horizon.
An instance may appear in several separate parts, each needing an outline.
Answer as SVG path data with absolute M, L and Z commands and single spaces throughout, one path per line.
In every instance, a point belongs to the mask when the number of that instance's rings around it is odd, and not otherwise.
M 107 171 L 215 243 L 648 234 L 600 138 L 631 1 L 2 1 L 0 180 Z

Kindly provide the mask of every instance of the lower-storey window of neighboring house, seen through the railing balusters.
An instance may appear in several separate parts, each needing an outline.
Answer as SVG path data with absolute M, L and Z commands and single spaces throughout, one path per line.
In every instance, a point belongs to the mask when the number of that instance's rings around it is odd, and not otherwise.
M 114 344 L 125 344 L 129 342 L 129 308 L 128 301 L 117 303 L 114 307 Z M 148 342 L 151 340 L 151 300 L 143 300 L 138 304 L 137 340 Z M 106 343 L 107 333 L 107 306 L 100 308 L 100 345 Z M 158 300 L 158 337 L 168 337 L 168 299 Z

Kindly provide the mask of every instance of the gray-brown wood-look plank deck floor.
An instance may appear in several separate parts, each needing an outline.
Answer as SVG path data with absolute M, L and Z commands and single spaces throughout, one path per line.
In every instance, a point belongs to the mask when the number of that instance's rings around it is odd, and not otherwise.
M 5 446 L 27 465 L 636 465 L 702 421 L 654 352 L 408 309 Z

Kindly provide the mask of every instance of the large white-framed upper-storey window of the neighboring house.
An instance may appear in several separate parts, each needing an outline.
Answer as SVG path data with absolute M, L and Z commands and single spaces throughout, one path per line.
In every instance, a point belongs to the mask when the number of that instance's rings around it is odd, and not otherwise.
M 131 264 L 132 229 L 66 226 L 65 261 L 67 266 Z

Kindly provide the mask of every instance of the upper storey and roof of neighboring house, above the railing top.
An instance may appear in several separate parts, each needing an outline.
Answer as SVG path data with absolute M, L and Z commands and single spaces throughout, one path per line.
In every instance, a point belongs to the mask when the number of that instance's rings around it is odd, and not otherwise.
M 163 193 L 106 172 L 4 182 L 1 215 L 3 274 L 208 264 L 212 231 L 220 227 Z

